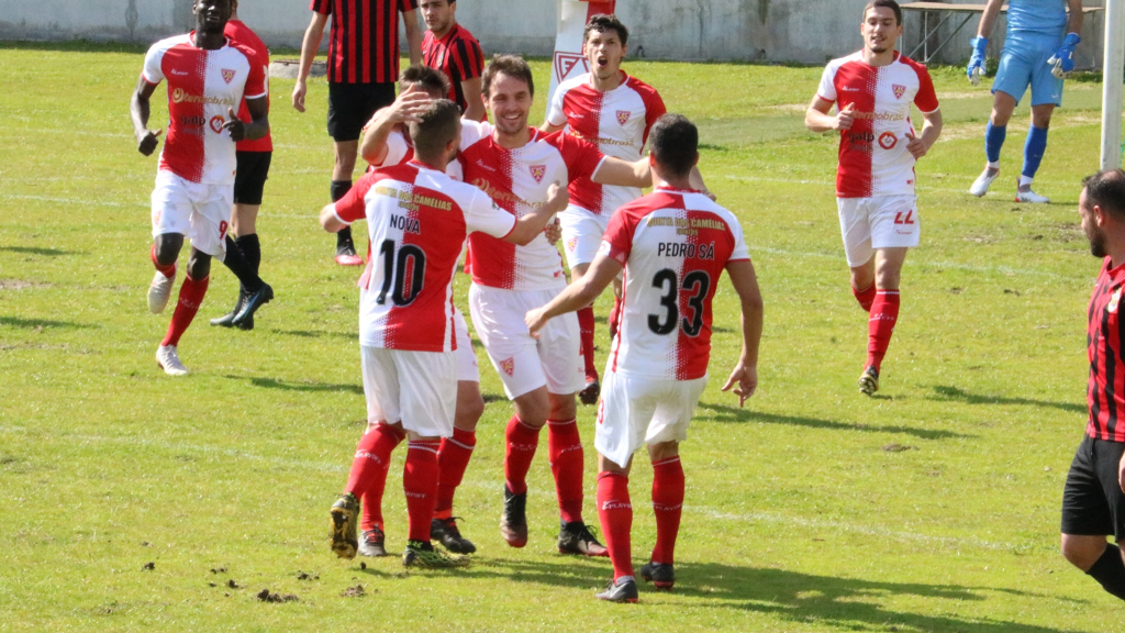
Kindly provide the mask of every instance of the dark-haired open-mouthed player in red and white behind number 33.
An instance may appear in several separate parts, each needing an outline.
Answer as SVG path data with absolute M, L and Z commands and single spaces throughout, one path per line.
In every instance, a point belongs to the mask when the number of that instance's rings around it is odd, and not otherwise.
M 641 157 L 649 130 L 666 110 L 651 86 L 621 70 L 629 44 L 629 29 L 616 16 L 590 18 L 583 35 L 583 53 L 591 71 L 559 84 L 551 98 L 543 132 L 566 131 L 597 145 L 602 153 L 621 160 Z M 637 187 L 603 186 L 590 178 L 570 184 L 570 206 L 560 216 L 562 243 L 573 279 L 586 274 L 602 243 L 610 216 L 621 205 L 640 197 Z M 620 296 L 620 284 L 614 283 Z M 618 301 L 610 315 L 610 338 L 616 328 Z M 578 311 L 586 386 L 578 393 L 584 404 L 597 402 L 601 386 L 594 365 L 594 306 Z

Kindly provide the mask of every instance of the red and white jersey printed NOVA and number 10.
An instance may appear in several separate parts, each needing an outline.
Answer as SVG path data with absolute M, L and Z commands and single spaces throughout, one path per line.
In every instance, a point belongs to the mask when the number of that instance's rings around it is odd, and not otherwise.
M 452 282 L 465 237 L 504 238 L 515 217 L 479 189 L 416 161 L 363 175 L 335 214 L 346 223 L 367 217 L 375 244 L 360 291 L 360 345 L 457 349 Z

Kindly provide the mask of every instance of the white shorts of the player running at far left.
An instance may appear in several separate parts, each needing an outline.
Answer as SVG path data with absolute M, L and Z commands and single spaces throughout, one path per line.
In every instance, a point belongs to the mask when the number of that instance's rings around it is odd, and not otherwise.
M 152 237 L 179 233 L 196 250 L 222 261 L 233 205 L 233 184 L 192 182 L 162 169 L 152 190 Z

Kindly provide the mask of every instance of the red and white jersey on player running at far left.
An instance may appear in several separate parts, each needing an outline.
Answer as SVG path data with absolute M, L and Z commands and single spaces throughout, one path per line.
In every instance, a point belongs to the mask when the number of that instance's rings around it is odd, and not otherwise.
M 162 39 L 144 59 L 144 80 L 168 80 L 169 124 L 160 169 L 209 185 L 234 182 L 235 145 L 223 128 L 227 108 L 238 110 L 243 97 L 267 95 L 266 69 L 254 53 L 231 39 L 208 51 L 195 45 L 194 33 Z

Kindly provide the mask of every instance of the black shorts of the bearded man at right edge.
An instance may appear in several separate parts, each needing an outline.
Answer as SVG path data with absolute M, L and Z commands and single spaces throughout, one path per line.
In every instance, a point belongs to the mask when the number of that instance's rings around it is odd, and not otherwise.
M 1090 436 L 1079 445 L 1062 493 L 1063 534 L 1113 534 L 1125 543 L 1125 494 L 1117 482 L 1123 453 L 1125 443 Z

